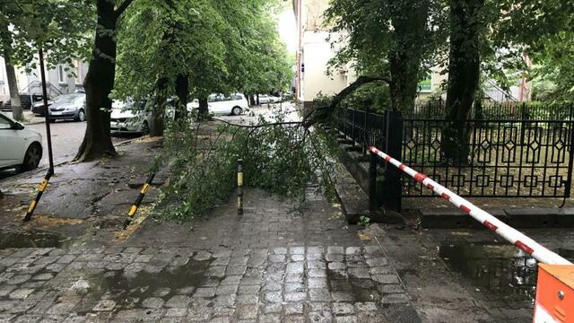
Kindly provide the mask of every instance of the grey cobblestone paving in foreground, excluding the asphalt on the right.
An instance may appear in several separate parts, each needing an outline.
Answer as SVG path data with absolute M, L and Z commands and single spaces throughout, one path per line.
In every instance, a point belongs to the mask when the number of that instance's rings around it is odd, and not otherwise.
M 250 196 L 250 197 L 249 197 Z M 193 230 L 148 221 L 105 246 L 0 250 L 0 322 L 417 322 L 372 240 L 309 193 L 246 190 Z

